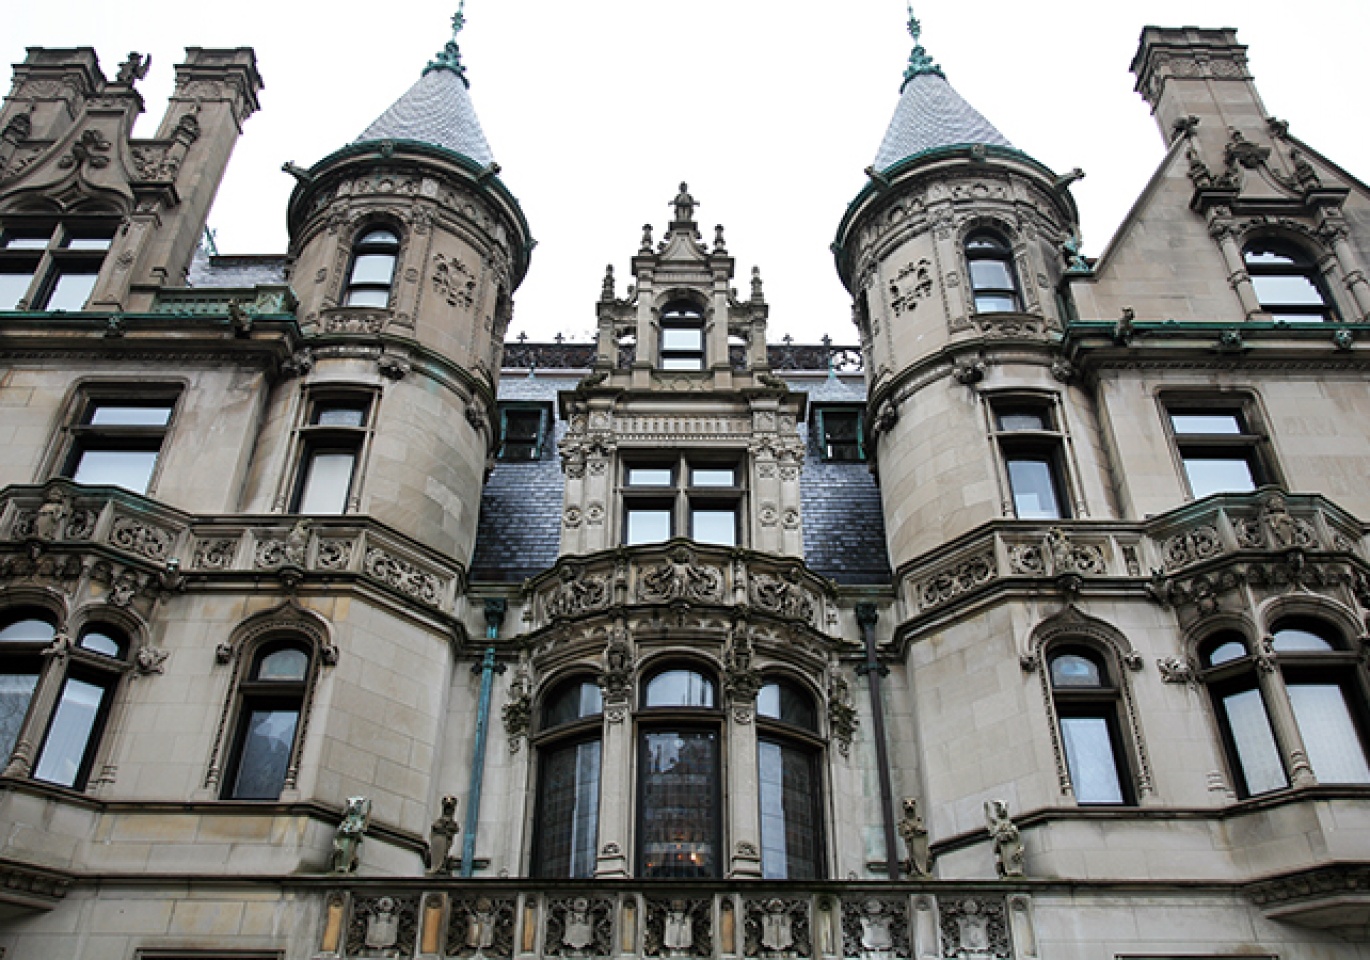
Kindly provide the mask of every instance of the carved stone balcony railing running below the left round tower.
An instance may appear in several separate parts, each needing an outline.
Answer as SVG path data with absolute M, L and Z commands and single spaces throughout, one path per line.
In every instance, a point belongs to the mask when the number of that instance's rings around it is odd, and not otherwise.
M 5 542 L 21 549 L 4 551 Z M 399 597 L 452 612 L 466 571 L 367 518 L 197 518 L 107 486 L 53 481 L 0 490 L 0 575 L 34 553 L 96 551 L 123 561 L 132 590 L 185 578 L 353 575 Z M 7 555 L 8 553 L 8 555 Z

